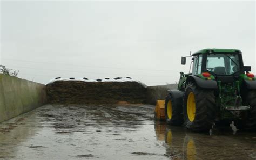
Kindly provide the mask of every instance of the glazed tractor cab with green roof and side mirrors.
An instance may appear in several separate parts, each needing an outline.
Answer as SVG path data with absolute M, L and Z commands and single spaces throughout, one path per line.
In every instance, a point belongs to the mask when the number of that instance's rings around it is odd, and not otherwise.
M 251 71 L 251 67 L 244 66 L 241 51 L 237 49 L 203 49 L 191 57 L 192 75 L 207 72 L 217 79 L 226 77 L 228 81 L 228 77 L 238 78 L 245 71 Z M 233 78 L 230 78 L 230 82 L 233 82 Z

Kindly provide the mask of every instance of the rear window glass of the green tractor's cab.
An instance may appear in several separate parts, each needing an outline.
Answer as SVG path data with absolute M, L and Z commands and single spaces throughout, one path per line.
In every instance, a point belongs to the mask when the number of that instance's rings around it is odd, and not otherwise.
M 238 54 L 207 54 L 206 69 L 217 75 L 231 75 L 240 70 Z

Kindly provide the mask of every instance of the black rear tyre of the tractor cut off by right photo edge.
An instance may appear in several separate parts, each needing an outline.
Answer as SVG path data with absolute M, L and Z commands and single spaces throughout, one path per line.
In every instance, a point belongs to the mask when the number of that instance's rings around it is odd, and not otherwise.
M 251 106 L 244 129 L 256 131 L 256 90 L 248 92 L 246 103 Z

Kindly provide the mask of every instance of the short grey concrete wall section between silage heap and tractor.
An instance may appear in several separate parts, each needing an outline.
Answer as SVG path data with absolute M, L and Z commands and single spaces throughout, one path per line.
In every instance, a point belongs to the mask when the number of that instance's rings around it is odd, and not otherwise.
M 168 90 L 178 88 L 178 84 L 167 84 L 147 87 L 147 104 L 156 105 L 157 100 L 164 100 Z

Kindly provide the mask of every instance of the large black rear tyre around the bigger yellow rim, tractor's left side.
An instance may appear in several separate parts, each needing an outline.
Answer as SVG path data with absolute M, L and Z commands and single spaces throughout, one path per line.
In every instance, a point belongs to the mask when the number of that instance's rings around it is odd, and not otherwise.
M 187 115 L 187 99 L 191 92 L 194 95 L 194 103 L 196 104 L 196 111 L 192 121 L 190 121 Z M 193 83 L 187 84 L 183 100 L 183 117 L 185 127 L 195 132 L 210 130 L 214 124 L 215 114 L 216 103 L 214 90 L 199 88 Z

